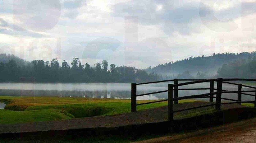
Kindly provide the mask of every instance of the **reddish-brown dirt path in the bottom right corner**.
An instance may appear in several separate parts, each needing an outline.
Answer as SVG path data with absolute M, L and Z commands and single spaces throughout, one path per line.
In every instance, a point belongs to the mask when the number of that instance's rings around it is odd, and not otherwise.
M 136 143 L 255 143 L 256 118 L 206 130 L 164 136 Z

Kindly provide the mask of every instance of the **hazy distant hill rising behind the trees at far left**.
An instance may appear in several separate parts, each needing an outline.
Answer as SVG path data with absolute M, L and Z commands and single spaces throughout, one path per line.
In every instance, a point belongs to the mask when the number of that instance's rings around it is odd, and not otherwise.
M 18 65 L 24 65 L 29 63 L 15 55 L 6 55 L 6 53 L 0 53 L 0 63 L 8 63 L 9 60 L 14 60 Z

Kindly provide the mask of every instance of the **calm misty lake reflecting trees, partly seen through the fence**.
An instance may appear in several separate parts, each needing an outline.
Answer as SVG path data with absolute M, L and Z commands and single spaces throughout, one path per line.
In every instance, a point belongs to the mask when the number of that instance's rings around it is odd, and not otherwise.
M 137 86 L 137 95 L 167 90 L 167 82 Z M 199 83 L 179 88 L 208 88 L 210 83 Z M 217 85 L 215 85 L 215 88 Z M 223 84 L 224 90 L 236 91 L 237 86 Z M 242 90 L 251 90 L 244 88 Z M 209 90 L 179 91 L 179 96 L 208 93 Z M 254 93 L 251 93 L 254 94 Z M 61 96 L 90 98 L 131 98 L 130 83 L 0 83 L 0 95 L 12 96 Z M 223 94 L 224 98 L 237 99 L 237 94 Z M 140 96 L 142 99 L 167 99 L 167 92 Z M 208 100 L 208 99 L 207 99 Z M 242 95 L 242 100 L 254 100 L 253 96 Z

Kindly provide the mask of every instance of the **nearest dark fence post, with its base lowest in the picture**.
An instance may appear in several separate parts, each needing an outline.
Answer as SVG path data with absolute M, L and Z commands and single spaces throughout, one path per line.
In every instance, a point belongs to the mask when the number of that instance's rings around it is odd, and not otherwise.
M 173 84 L 168 84 L 168 120 L 173 121 Z

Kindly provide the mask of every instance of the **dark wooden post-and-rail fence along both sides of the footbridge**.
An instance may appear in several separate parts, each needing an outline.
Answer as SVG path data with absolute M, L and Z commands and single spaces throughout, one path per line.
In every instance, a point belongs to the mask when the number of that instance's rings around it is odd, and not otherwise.
M 189 82 L 178 83 L 178 81 L 189 81 Z M 242 85 L 240 83 L 239 84 L 238 83 L 232 83 L 232 82 L 229 82 L 229 81 L 254 81 L 255 82 L 256 79 L 223 79 L 223 78 L 218 78 L 218 79 L 173 79 L 173 80 L 162 80 L 162 81 L 147 82 L 147 83 L 132 83 L 131 112 L 136 112 L 136 107 L 140 106 L 140 105 L 143 105 L 143 104 L 150 104 L 150 103 L 168 101 L 168 120 L 172 121 L 173 120 L 173 113 L 186 111 L 186 110 L 192 110 L 192 109 L 196 109 L 196 108 L 215 106 L 215 110 L 221 110 L 221 105 L 222 104 L 241 104 L 241 103 L 254 103 L 254 107 L 256 107 L 256 87 L 246 86 L 246 85 Z M 151 93 L 137 95 L 137 86 L 138 85 L 152 84 L 152 83 L 162 83 L 162 82 L 174 82 L 174 84 L 168 84 L 167 90 L 164 90 L 164 91 L 151 92 Z M 185 86 L 185 85 L 191 85 L 191 84 L 197 84 L 197 83 L 207 83 L 207 82 L 210 82 L 210 87 L 209 88 L 179 88 L 179 87 Z M 214 82 L 217 82 L 217 88 L 214 88 Z M 238 90 L 237 91 L 223 90 L 222 89 L 222 84 L 223 83 L 236 85 L 236 86 L 238 86 Z M 252 88 L 253 90 L 243 91 L 242 87 Z M 180 90 L 209 90 L 209 93 L 178 97 L 178 91 L 180 91 Z M 137 97 L 138 96 L 158 94 L 158 93 L 163 93 L 163 92 L 168 92 L 168 99 L 137 104 Z M 248 94 L 246 92 L 255 92 L 255 94 Z M 222 94 L 224 94 L 224 93 L 237 93 L 237 100 L 229 99 L 229 98 L 222 98 Z M 216 95 L 216 96 L 214 96 L 214 95 Z M 242 95 L 254 96 L 255 99 L 253 101 L 242 101 L 241 100 Z M 215 99 L 215 104 L 192 107 L 192 108 L 186 108 L 186 109 L 177 110 L 177 111 L 173 110 L 173 104 L 178 104 L 178 100 L 196 99 L 196 98 L 209 98 L 210 102 L 214 102 L 213 99 Z M 221 102 L 222 99 L 233 101 L 233 102 Z

